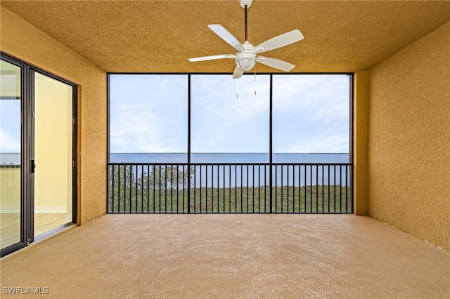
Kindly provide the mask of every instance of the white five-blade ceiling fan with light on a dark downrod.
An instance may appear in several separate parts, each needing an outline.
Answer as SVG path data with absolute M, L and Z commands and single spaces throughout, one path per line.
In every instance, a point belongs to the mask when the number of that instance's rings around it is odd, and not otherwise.
M 267 51 L 274 50 L 276 48 L 281 48 L 283 46 L 288 46 L 297 41 L 304 39 L 302 32 L 299 29 L 295 29 L 285 34 L 275 36 L 267 41 L 264 41 L 258 46 L 253 46 L 248 42 L 247 38 L 247 8 L 252 5 L 253 0 L 239 0 L 240 6 L 245 10 L 245 42 L 240 44 L 238 39 L 233 36 L 227 29 L 219 24 L 208 25 L 215 34 L 217 34 L 221 39 L 226 41 L 228 44 L 236 48 L 237 53 L 235 54 L 222 54 L 222 55 L 211 55 L 196 58 L 189 58 L 191 62 L 204 61 L 204 60 L 214 60 L 223 58 L 234 58 L 236 61 L 236 67 L 233 72 L 233 79 L 242 77 L 243 73 L 249 71 L 255 66 L 256 62 L 260 62 L 263 65 L 269 67 L 274 67 L 275 69 L 281 69 L 284 72 L 290 72 L 295 65 L 279 60 L 276 58 L 269 58 L 264 56 L 259 56 L 259 53 L 264 53 Z

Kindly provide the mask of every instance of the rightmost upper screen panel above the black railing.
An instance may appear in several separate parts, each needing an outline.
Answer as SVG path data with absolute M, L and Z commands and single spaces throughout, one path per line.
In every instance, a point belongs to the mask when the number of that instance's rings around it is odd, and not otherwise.
M 349 84 L 342 75 L 274 75 L 274 162 L 349 161 Z

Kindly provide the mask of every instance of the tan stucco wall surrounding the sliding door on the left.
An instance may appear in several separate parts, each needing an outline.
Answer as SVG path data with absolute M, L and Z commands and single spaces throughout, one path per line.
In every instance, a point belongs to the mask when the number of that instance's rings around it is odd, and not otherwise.
M 78 222 L 106 211 L 106 74 L 1 7 L 1 51 L 79 85 Z

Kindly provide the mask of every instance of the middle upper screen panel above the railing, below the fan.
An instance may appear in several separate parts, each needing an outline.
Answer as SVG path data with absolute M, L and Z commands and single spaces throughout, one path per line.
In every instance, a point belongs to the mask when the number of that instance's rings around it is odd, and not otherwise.
M 191 77 L 191 161 L 269 162 L 268 75 Z

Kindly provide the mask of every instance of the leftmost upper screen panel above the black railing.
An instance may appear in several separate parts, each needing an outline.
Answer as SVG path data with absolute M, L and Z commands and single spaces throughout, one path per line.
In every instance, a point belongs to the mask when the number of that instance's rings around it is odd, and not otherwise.
M 110 161 L 186 163 L 187 75 L 110 75 Z

